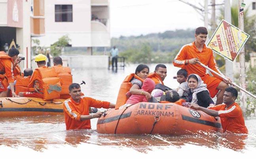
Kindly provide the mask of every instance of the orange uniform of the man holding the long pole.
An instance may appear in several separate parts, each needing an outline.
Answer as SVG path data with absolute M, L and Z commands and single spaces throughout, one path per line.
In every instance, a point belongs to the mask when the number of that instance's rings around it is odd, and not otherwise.
M 215 72 L 222 74 L 218 67 L 216 66 L 216 62 L 213 56 L 213 52 L 210 48 L 207 48 L 206 45 L 203 45 L 203 50 L 200 52 L 197 50 L 195 46 L 195 42 L 191 44 L 186 44 L 182 46 L 180 52 L 176 55 L 173 65 L 176 67 L 181 67 L 188 71 L 188 75 L 190 74 L 198 74 L 204 83 L 207 84 L 207 89 L 210 92 L 210 96 L 213 98 L 218 93 L 218 85 L 222 81 L 222 78 L 212 73 L 214 77 L 210 76 L 206 73 L 206 69 L 199 64 L 187 64 L 185 65 L 185 60 L 198 58 L 201 63 L 208 66 Z M 222 74 L 223 75 L 223 74 Z M 223 75 L 224 76 L 224 75 Z

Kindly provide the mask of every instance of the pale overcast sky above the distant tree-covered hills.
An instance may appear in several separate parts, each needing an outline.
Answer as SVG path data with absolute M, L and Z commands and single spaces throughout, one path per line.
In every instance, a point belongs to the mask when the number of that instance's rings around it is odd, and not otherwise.
M 204 4 L 204 0 L 185 1 L 198 7 L 199 2 Z M 210 0 L 208 1 L 210 5 Z M 216 0 L 216 4 L 218 2 L 223 1 Z M 199 13 L 178 0 L 110 0 L 111 37 L 158 33 L 203 25 Z

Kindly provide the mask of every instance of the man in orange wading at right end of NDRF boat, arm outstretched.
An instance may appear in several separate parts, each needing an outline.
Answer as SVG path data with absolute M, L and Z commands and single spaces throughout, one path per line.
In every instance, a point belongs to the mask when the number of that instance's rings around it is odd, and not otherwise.
M 191 104 L 190 108 L 203 111 L 211 116 L 220 116 L 223 132 L 248 133 L 241 107 L 235 102 L 237 90 L 234 87 L 225 89 L 223 103 L 208 108 Z

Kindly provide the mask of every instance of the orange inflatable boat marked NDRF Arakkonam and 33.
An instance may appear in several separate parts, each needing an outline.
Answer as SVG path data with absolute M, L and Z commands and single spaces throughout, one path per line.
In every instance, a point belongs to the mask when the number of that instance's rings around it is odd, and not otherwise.
M 141 102 L 110 109 L 97 122 L 99 133 L 185 135 L 222 131 L 220 118 L 173 103 Z

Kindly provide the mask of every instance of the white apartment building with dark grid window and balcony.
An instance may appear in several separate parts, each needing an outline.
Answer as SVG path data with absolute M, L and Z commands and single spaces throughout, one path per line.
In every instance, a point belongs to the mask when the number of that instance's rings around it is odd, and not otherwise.
M 51 46 L 63 35 L 72 47 L 110 46 L 108 0 L 45 0 L 45 36 L 40 45 Z

